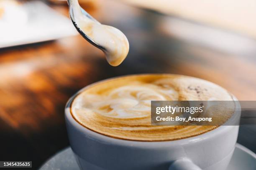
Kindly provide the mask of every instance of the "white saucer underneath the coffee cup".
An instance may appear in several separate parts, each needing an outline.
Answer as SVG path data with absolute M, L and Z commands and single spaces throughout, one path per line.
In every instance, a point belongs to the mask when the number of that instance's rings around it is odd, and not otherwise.
M 79 170 L 79 167 L 71 148 L 68 147 L 51 157 L 39 170 Z M 227 170 L 256 170 L 256 154 L 236 144 Z

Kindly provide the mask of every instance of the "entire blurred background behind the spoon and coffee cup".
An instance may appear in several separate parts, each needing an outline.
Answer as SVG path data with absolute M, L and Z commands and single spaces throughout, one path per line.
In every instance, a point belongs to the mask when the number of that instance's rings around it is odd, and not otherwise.
M 118 67 L 77 34 L 66 0 L 0 0 L 0 160 L 38 169 L 69 145 L 64 107 L 93 82 L 138 73 L 195 76 L 256 100 L 255 0 L 79 0 L 125 33 Z M 238 142 L 256 152 L 256 127 Z

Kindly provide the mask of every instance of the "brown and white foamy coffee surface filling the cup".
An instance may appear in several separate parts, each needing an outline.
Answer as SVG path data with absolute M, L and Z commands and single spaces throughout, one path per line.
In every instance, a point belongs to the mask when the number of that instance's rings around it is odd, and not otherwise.
M 74 99 L 71 112 L 84 127 L 125 140 L 178 140 L 216 128 L 152 126 L 151 100 L 233 99 L 222 87 L 202 79 L 172 74 L 137 75 L 110 79 L 85 88 Z

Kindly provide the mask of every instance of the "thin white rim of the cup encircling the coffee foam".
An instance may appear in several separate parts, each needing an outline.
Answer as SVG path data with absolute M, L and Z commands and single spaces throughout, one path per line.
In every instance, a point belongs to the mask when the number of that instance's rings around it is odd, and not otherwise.
M 224 132 L 230 131 L 234 127 L 238 126 L 238 125 L 233 125 L 233 126 L 232 125 L 229 125 L 229 126 L 221 125 L 219 127 L 216 127 L 215 129 L 212 129 L 212 130 L 210 130 L 208 132 L 205 132 L 203 134 L 199 134 L 199 135 L 192 136 L 192 137 L 186 137 L 186 138 L 182 138 L 182 139 L 177 139 L 177 140 L 137 141 L 137 140 L 118 139 L 118 138 L 115 138 L 115 137 L 109 137 L 107 135 L 100 134 L 98 132 L 95 132 L 95 131 L 93 131 L 91 129 L 88 129 L 87 127 L 81 125 L 72 116 L 72 113 L 70 112 L 72 102 L 85 89 L 88 89 L 88 88 L 94 86 L 95 84 L 104 83 L 105 81 L 110 81 L 112 79 L 119 79 L 119 78 L 128 77 L 128 76 L 144 76 L 144 75 L 147 76 L 147 75 L 179 75 L 179 74 L 131 74 L 131 75 L 124 75 L 124 76 L 116 76 L 116 77 L 104 79 L 104 80 L 92 83 L 90 85 L 87 85 L 87 86 L 83 87 L 82 89 L 80 89 L 79 91 L 77 91 L 67 101 L 67 104 L 65 106 L 66 123 L 69 122 L 79 132 L 84 133 L 84 135 L 90 137 L 91 139 L 93 139 L 97 142 L 109 143 L 109 144 L 113 144 L 113 145 L 121 145 L 121 146 L 127 146 L 127 147 L 129 147 L 129 146 L 136 147 L 137 146 L 137 147 L 148 147 L 148 148 L 152 148 L 152 147 L 154 147 L 154 148 L 163 148 L 163 147 L 169 147 L 170 145 L 174 145 L 174 146 L 187 145 L 188 143 L 192 144 L 192 143 L 195 143 L 195 142 L 200 142 L 202 140 L 210 140 L 211 138 L 213 138 L 215 136 L 218 136 L 218 135 L 220 135 Z M 187 76 L 187 77 L 192 77 L 192 76 Z M 233 99 L 234 99 L 234 101 L 238 101 L 238 99 L 235 96 L 233 96 Z M 235 103 L 236 103 L 236 108 L 240 108 L 240 105 L 238 105 L 237 102 L 235 102 Z M 239 110 L 239 109 L 235 109 L 235 112 L 237 110 Z M 235 117 L 235 115 L 239 115 L 239 114 L 233 114 L 230 119 L 233 119 Z M 161 144 L 161 145 L 159 145 L 159 144 Z

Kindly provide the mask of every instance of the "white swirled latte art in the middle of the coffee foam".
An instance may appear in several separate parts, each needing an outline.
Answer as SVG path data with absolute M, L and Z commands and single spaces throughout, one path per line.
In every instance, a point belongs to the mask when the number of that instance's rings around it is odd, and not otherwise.
M 105 117 L 118 119 L 142 118 L 150 116 L 151 100 L 176 100 L 177 94 L 173 89 L 160 89 L 153 84 L 121 86 L 105 96 L 94 94 L 85 95 L 80 102 L 87 111 L 92 111 Z M 177 96 L 177 95 L 176 95 Z M 82 108 L 81 108 L 82 109 Z

